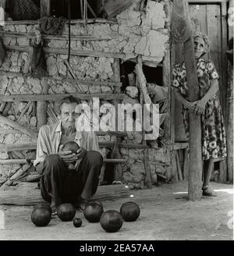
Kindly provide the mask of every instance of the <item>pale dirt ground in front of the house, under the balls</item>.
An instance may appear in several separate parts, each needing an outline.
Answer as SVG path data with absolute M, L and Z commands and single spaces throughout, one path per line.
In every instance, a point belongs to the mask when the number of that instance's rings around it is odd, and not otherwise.
M 140 205 L 137 222 L 124 222 L 117 233 L 106 233 L 99 223 L 89 223 L 82 212 L 80 228 L 53 217 L 46 227 L 30 222 L 33 207 L 5 206 L 5 229 L 0 240 L 233 240 L 233 187 L 212 183 L 218 197 L 186 199 L 187 182 L 162 184 L 151 190 L 131 190 L 134 197 L 103 201 L 105 210 L 119 210 L 122 203 Z

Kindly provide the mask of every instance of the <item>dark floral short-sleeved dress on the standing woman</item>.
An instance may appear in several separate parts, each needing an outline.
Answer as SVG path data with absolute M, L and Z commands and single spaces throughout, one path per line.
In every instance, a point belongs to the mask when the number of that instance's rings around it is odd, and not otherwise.
M 211 80 L 219 79 L 219 76 L 211 60 L 198 59 L 196 67 L 200 98 L 203 98 L 211 87 Z M 183 97 L 188 100 L 185 63 L 177 64 L 173 69 L 172 87 L 178 88 Z M 189 110 L 184 106 L 182 107 L 182 115 L 186 137 L 189 138 Z M 204 114 L 201 115 L 201 136 L 203 160 L 226 156 L 224 119 L 222 108 L 216 95 L 207 101 Z

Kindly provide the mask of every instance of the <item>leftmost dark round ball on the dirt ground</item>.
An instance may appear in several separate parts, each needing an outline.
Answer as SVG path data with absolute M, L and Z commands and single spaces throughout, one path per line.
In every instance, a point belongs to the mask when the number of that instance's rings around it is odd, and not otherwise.
M 36 226 L 47 226 L 51 221 L 51 211 L 48 208 L 34 208 L 31 214 L 31 221 Z

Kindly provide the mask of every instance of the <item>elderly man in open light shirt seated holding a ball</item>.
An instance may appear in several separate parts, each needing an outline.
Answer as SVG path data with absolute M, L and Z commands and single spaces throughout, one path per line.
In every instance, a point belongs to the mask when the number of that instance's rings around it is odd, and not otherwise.
M 60 122 L 41 126 L 37 140 L 37 158 L 34 161 L 41 173 L 41 196 L 51 204 L 52 211 L 63 202 L 78 206 L 95 194 L 103 158 L 99 152 L 94 132 L 76 131 L 75 108 L 78 101 L 73 97 L 59 101 Z M 62 151 L 67 141 L 80 146 L 76 154 Z M 76 161 L 74 168 L 70 163 Z

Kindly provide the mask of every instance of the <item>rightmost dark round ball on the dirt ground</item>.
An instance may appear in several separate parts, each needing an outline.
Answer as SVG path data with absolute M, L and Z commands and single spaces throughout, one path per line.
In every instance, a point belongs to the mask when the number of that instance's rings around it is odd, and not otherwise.
M 122 204 L 120 213 L 126 222 L 134 222 L 140 216 L 140 207 L 134 202 L 126 202 Z

